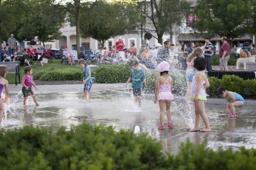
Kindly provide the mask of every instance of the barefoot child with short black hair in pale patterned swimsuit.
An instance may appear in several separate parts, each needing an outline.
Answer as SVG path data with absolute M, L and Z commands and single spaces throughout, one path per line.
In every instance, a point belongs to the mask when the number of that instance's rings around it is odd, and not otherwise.
M 199 131 L 200 116 L 203 118 L 205 129 L 202 132 L 211 131 L 208 117 L 205 113 L 204 101 L 206 101 L 207 94 L 205 93 L 206 88 L 209 87 L 209 81 L 204 73 L 206 68 L 206 59 L 203 57 L 196 57 L 194 60 L 194 68 L 197 73 L 192 80 L 191 99 L 193 99 L 195 106 L 195 127 L 189 131 Z

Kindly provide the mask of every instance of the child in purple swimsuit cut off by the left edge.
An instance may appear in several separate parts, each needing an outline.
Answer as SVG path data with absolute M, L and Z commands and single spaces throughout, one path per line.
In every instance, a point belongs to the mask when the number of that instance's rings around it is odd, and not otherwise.
M 8 104 L 8 98 L 9 98 L 9 83 L 5 79 L 7 75 L 8 69 L 5 65 L 0 65 L 0 98 L 1 98 L 1 93 L 3 91 L 3 87 L 5 88 L 6 96 L 4 101 L 0 99 L 0 128 L 4 127 L 2 121 L 3 121 L 3 113 L 4 113 L 4 107 L 3 103 Z

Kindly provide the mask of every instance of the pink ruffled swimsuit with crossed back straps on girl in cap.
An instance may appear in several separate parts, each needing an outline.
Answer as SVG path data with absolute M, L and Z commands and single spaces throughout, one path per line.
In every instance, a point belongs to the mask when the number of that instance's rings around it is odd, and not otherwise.
M 168 83 L 167 81 L 169 80 L 170 77 L 167 80 L 165 80 L 163 77 L 161 78 L 165 81 L 165 83 L 163 85 L 160 85 L 159 87 L 157 100 L 165 100 L 165 102 L 171 102 L 174 99 L 171 90 L 171 85 L 166 84 Z

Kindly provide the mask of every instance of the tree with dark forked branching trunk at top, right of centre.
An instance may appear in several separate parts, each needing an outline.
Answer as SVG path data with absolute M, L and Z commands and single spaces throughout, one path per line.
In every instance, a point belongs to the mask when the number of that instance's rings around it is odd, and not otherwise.
M 172 34 L 173 26 L 182 25 L 190 3 L 187 0 L 150 0 L 148 6 L 145 15 L 157 33 L 155 38 L 162 43 L 164 33 Z

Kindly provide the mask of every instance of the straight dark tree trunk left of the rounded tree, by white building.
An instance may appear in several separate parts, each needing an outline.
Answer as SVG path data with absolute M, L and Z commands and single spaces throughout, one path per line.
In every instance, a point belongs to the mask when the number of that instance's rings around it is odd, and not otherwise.
M 74 0 L 76 17 L 76 51 L 80 57 L 80 0 Z

